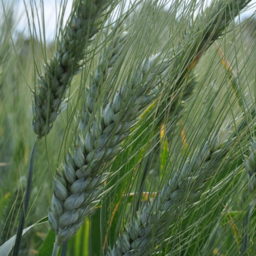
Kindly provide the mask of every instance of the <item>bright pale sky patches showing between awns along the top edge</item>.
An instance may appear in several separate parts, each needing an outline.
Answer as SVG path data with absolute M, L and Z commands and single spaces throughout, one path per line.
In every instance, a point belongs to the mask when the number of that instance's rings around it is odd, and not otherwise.
M 16 22 L 18 25 L 18 30 L 25 31 L 25 34 L 28 35 L 28 20 L 27 20 L 27 15 L 26 15 L 26 11 L 25 11 L 25 5 L 23 3 L 23 0 L 16 0 L 17 4 L 15 4 L 17 6 L 18 9 L 18 14 L 16 15 Z M 127 0 L 127 4 L 129 4 L 131 0 Z M 188 0 L 189 1 L 189 0 Z M 207 2 L 208 0 L 206 0 Z M 42 8 L 40 6 L 40 2 L 42 2 L 42 0 L 25 0 L 25 3 L 27 3 L 28 9 L 30 9 L 30 2 L 36 2 L 37 3 L 37 8 L 38 8 L 38 15 L 39 15 L 39 20 L 41 20 L 41 25 L 42 25 Z M 63 0 L 62 0 L 63 2 Z M 71 4 L 72 4 L 72 0 L 66 0 L 67 2 L 67 7 L 66 7 L 66 12 L 64 15 L 64 20 L 66 21 L 69 15 L 69 12 L 71 10 Z M 208 1 L 209 2 L 209 1 Z M 250 10 L 244 12 L 242 14 L 242 18 L 246 17 L 246 16 L 250 16 L 252 15 L 255 10 L 256 10 L 256 0 L 253 0 L 251 2 L 253 4 L 253 8 L 251 8 Z M 44 21 L 45 21 L 45 37 L 47 41 L 51 41 L 54 38 L 54 31 L 55 31 L 55 24 L 56 24 L 56 20 L 57 20 L 57 13 L 58 10 L 60 10 L 60 0 L 43 0 L 43 4 L 44 4 Z M 0 6 L 1 8 L 2 6 Z M 56 8 L 57 7 L 57 8 Z M 31 13 L 30 13 L 30 19 L 29 20 L 33 20 L 31 19 Z M 34 19 L 35 20 L 35 19 Z M 38 25 L 38 22 L 36 22 L 35 24 L 37 33 L 40 30 L 40 26 Z M 42 29 L 42 26 L 41 26 Z

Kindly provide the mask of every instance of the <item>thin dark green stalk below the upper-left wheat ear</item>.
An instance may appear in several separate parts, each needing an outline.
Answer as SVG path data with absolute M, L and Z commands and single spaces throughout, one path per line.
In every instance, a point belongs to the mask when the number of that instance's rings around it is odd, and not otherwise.
M 35 159 L 36 159 L 36 151 L 37 151 L 40 140 L 41 139 L 39 137 L 36 137 L 33 148 L 31 150 L 30 158 L 29 158 L 27 187 L 26 187 L 26 191 L 25 191 L 25 197 L 24 197 L 24 203 L 23 203 L 23 207 L 22 207 L 22 211 L 21 211 L 19 227 L 18 227 L 18 231 L 17 231 L 15 243 L 14 243 L 13 256 L 17 256 L 19 253 L 22 231 L 23 231 L 23 227 L 25 224 L 25 218 L 27 216 L 28 204 L 29 204 L 29 199 L 30 199 L 30 195 L 31 195 L 32 180 L 33 180 L 34 166 L 35 166 Z

